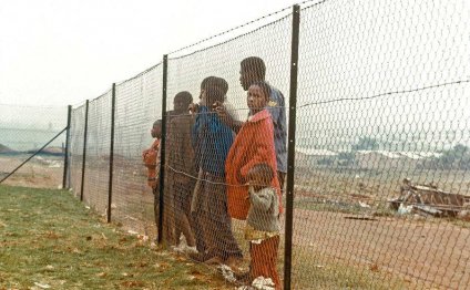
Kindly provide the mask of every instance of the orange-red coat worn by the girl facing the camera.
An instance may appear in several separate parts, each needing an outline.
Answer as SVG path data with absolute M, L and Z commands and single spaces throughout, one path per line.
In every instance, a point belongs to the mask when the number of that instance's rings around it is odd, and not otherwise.
M 266 163 L 274 170 L 272 186 L 277 189 L 279 213 L 282 213 L 280 189 L 276 174 L 274 125 L 267 110 L 256 113 L 242 126 L 225 160 L 228 214 L 233 218 L 246 219 L 248 215 L 246 176 L 258 163 Z

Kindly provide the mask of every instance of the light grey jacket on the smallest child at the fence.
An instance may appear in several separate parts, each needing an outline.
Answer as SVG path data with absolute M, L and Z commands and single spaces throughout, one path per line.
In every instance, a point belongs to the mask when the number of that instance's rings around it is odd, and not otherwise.
M 279 231 L 279 199 L 276 189 L 266 187 L 255 193 L 249 187 L 251 207 L 246 222 L 256 230 Z

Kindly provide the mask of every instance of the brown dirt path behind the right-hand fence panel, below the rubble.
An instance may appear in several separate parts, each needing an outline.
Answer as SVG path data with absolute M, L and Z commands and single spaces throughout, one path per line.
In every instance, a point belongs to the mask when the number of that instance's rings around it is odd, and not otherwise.
M 468 228 L 437 219 L 348 217 L 354 216 L 296 209 L 294 245 L 298 251 L 385 270 L 423 288 L 463 289 L 470 283 Z

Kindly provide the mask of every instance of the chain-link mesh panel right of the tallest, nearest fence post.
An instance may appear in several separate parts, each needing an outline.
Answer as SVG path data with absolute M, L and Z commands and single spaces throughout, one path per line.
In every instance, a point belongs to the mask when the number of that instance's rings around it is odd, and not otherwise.
M 466 288 L 468 2 L 300 15 L 294 288 Z

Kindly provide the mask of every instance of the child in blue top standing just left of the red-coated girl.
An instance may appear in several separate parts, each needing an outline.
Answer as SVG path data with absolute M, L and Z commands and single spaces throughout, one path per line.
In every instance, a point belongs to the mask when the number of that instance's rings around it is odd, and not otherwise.
M 204 79 L 201 102 L 192 106 L 193 113 L 197 113 L 192 141 L 200 180 L 192 203 L 198 253 L 190 257 L 207 263 L 234 266 L 243 255 L 232 232 L 225 186 L 225 159 L 233 143 L 233 132 L 213 111 L 216 102 L 224 102 L 224 87 L 228 84 L 221 77 Z

